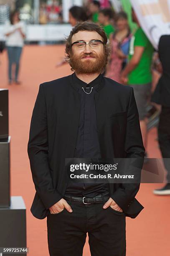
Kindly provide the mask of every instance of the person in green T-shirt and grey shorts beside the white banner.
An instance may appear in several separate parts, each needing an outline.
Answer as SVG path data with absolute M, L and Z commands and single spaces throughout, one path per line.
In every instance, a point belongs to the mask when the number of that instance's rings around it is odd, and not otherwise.
M 121 82 L 128 84 L 134 89 L 134 97 L 140 117 L 140 127 L 142 131 L 143 143 L 147 145 L 147 105 L 151 96 L 152 87 L 152 55 L 154 48 L 149 39 L 140 27 L 134 10 L 132 10 L 133 20 L 139 28 L 132 36 L 129 49 L 129 63 L 121 74 Z M 147 154 L 145 153 L 145 157 Z

